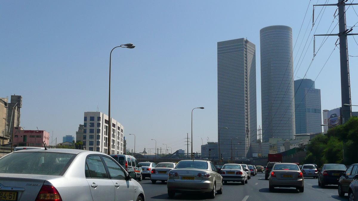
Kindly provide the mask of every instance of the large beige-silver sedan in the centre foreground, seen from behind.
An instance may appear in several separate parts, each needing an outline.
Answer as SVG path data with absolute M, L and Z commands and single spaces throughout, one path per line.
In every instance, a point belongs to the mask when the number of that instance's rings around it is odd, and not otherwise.
M 222 171 L 217 170 L 211 161 L 184 160 L 180 161 L 168 173 L 168 196 L 174 197 L 176 192 L 205 192 L 214 198 L 216 191 L 222 194 Z

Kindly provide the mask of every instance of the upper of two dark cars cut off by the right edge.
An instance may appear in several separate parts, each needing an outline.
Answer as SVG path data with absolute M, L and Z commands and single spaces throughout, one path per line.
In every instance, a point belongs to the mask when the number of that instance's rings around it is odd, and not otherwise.
M 354 176 L 358 174 L 358 163 L 350 165 L 338 180 L 338 195 L 343 197 L 348 193 L 349 185 L 354 181 Z

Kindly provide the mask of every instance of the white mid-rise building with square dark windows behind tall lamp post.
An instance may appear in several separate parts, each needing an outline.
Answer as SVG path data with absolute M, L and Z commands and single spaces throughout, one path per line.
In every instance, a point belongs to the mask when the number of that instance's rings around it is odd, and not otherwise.
M 111 154 L 123 154 L 124 127 L 112 119 Z M 89 151 L 108 152 L 108 116 L 102 112 L 84 112 L 83 134 L 78 132 L 77 140 Z

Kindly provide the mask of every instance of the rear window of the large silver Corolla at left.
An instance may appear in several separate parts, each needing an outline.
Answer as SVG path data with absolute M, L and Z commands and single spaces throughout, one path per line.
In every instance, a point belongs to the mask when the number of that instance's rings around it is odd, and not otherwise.
M 0 173 L 63 175 L 75 154 L 56 152 L 14 152 L 0 158 Z

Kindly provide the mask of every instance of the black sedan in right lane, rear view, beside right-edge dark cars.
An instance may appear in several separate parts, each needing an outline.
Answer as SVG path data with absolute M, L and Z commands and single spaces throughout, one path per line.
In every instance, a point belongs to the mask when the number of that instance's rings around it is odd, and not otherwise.
M 324 188 L 325 185 L 338 185 L 340 173 L 345 170 L 347 168 L 343 164 L 324 164 L 318 173 L 318 186 Z

